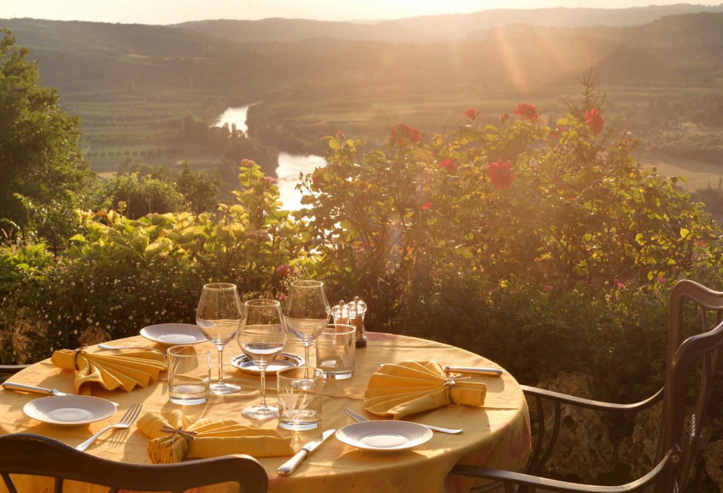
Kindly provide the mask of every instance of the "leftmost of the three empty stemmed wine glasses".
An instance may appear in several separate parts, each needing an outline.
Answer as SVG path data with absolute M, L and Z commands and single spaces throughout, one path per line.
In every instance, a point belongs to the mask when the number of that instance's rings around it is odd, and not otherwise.
M 223 347 L 239 330 L 241 300 L 235 284 L 213 282 L 205 284 L 196 309 L 196 325 L 218 349 L 218 382 L 210 385 L 213 394 L 234 393 L 241 389 L 223 381 Z

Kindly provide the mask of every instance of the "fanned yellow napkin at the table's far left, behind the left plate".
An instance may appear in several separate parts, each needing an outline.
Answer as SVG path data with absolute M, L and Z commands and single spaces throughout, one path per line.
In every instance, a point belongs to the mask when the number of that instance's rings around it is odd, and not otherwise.
M 63 370 L 76 370 L 75 351 L 61 349 L 53 353 L 51 362 Z M 90 384 L 98 383 L 112 391 L 122 388 L 132 391 L 136 385 L 145 387 L 158 380 L 158 373 L 166 370 L 163 353 L 156 351 L 133 351 L 122 354 L 102 355 L 81 352 L 77 357 L 75 393 L 90 395 Z

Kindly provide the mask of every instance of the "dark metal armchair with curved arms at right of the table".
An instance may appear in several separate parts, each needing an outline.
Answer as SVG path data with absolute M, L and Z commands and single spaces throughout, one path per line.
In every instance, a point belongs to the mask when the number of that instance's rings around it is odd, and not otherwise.
M 701 331 L 684 338 L 683 313 L 686 301 L 698 305 L 701 314 Z M 577 398 L 562 393 L 544 391 L 522 385 L 528 398 L 534 398 L 538 411 L 536 420 L 536 443 L 523 473 L 500 471 L 477 466 L 455 466 L 453 474 L 500 481 L 505 492 L 542 491 L 623 493 L 654 491 L 657 493 L 683 492 L 690 466 L 693 464 L 701 441 L 701 430 L 707 419 L 707 409 L 715 385 L 719 354 L 723 346 L 723 292 L 716 292 L 690 280 L 675 284 L 670 295 L 670 332 L 667 367 L 664 386 L 653 396 L 631 404 L 615 404 Z M 710 329 L 710 327 L 714 327 Z M 698 375 L 694 362 L 702 362 L 700 380 L 695 386 L 697 400 L 690 416 L 690 431 L 684 432 L 686 401 L 690 375 Z M 691 389 L 692 390 L 692 389 Z M 654 467 L 636 481 L 621 486 L 594 486 L 568 481 L 557 481 L 536 476 L 549 458 L 560 431 L 561 405 L 569 404 L 596 411 L 640 411 L 662 398 L 662 417 Z M 552 402 L 554 424 L 551 436 L 545 441 L 545 408 L 543 401 Z M 548 406 L 549 408 L 549 406 Z M 499 485 L 498 483 L 495 483 Z

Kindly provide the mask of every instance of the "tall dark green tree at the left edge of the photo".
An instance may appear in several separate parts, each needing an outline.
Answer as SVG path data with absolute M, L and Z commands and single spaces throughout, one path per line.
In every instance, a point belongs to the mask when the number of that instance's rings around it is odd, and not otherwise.
M 66 235 L 72 209 L 93 180 L 80 152 L 80 118 L 40 84 L 38 61 L 0 30 L 0 228 L 6 234 Z

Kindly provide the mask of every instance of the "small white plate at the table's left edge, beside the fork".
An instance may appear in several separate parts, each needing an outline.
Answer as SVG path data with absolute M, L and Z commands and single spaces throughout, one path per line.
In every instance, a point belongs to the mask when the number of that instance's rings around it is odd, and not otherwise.
M 100 397 L 48 396 L 28 402 L 22 411 L 38 421 L 77 427 L 113 416 L 116 405 Z

